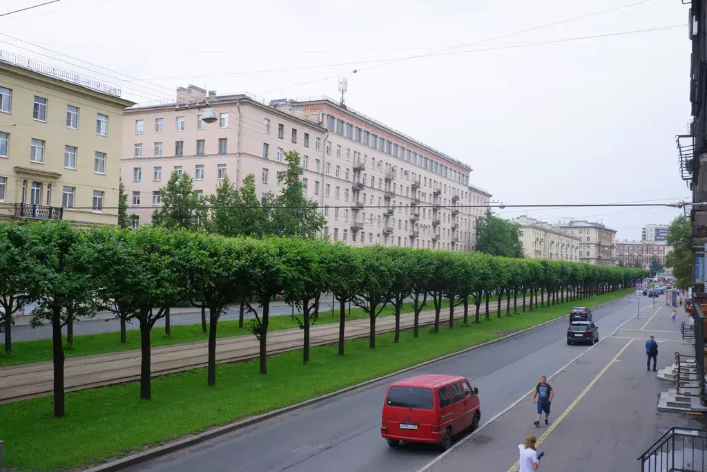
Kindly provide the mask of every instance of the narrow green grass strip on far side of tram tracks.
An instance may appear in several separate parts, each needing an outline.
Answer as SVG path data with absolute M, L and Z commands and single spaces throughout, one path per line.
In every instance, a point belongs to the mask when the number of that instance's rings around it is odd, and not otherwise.
M 448 302 L 443 302 L 443 306 L 448 306 Z M 428 302 L 425 309 L 433 309 L 433 304 Z M 390 316 L 393 314 L 393 307 L 386 306 L 379 316 Z M 404 304 L 402 311 L 411 312 L 412 304 Z M 351 314 L 346 309 L 346 319 L 356 320 L 358 318 L 367 318 L 368 315 L 360 308 L 351 308 Z M 206 316 L 208 316 L 208 311 Z M 301 319 L 301 316 L 300 316 Z M 339 311 L 323 311 L 320 313 L 320 318 L 317 324 L 322 323 L 338 323 Z M 135 321 L 134 323 L 137 323 Z M 247 323 L 247 319 L 246 319 Z M 76 323 L 81 326 L 81 322 Z M 136 326 L 128 325 L 128 326 Z M 288 328 L 298 328 L 297 320 L 292 320 L 290 315 L 271 316 L 269 323 L 269 331 L 284 330 Z M 229 336 L 243 336 L 250 334 L 247 324 L 244 328 L 238 328 L 238 321 L 221 321 L 218 323 L 218 338 L 228 338 Z M 1 336 L 0 336 L 1 338 Z M 164 328 L 153 328 L 151 333 L 151 345 L 163 346 L 170 344 L 189 343 L 192 341 L 204 341 L 209 339 L 208 333 L 201 331 L 201 323 L 194 325 L 173 325 L 171 334 L 165 335 Z M 65 350 L 66 357 L 87 356 L 92 354 L 103 354 L 104 352 L 117 352 L 130 349 L 140 349 L 140 330 L 131 329 L 127 332 L 127 343 L 120 343 L 120 333 L 100 333 L 74 336 L 74 347 Z M 52 360 L 52 340 L 41 339 L 36 341 L 21 341 L 12 343 L 13 354 L 10 357 L 4 357 L 4 344 L 0 343 L 0 367 L 27 364 L 28 362 L 40 362 Z

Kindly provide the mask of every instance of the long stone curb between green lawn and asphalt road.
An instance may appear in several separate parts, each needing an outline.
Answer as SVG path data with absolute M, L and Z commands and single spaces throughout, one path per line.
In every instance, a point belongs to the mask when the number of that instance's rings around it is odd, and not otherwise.
M 613 300 L 609 300 L 609 301 L 604 301 L 604 303 L 602 303 L 602 304 L 594 305 L 594 306 L 591 306 L 591 307 L 592 307 L 592 309 L 594 309 L 594 308 L 597 308 L 597 307 L 599 307 L 599 306 L 603 306 L 603 305 L 612 303 L 612 302 L 614 302 L 614 301 L 621 300 L 621 299 L 624 299 L 624 298 L 626 298 L 626 297 L 630 297 L 631 295 L 632 295 L 632 294 L 628 294 L 628 295 L 625 295 L 624 297 L 619 297 L 619 298 L 617 298 L 617 299 L 613 299 Z M 289 406 L 286 406 L 286 407 L 284 407 L 284 408 L 279 408 L 279 409 L 277 409 L 277 410 L 269 411 L 268 413 L 263 413 L 262 415 L 257 415 L 257 416 L 252 416 L 252 417 L 250 417 L 250 418 L 245 418 L 244 420 L 236 421 L 236 422 L 230 423 L 230 424 L 228 424 L 228 425 L 226 425 L 226 426 L 216 427 L 216 428 L 214 428 L 214 429 L 211 429 L 211 430 L 208 430 L 208 431 L 204 431 L 204 432 L 201 432 L 201 433 L 199 433 L 199 434 L 194 434 L 194 435 L 192 435 L 192 436 L 183 437 L 182 439 L 177 439 L 177 440 L 175 440 L 175 441 L 173 441 L 173 442 L 169 442 L 168 444 L 164 444 L 163 446 L 153 447 L 153 448 L 148 449 L 148 450 L 146 450 L 146 451 L 144 451 L 144 452 L 139 452 L 138 454 L 132 454 L 132 455 L 130 455 L 130 456 L 125 456 L 125 457 L 123 457 L 122 459 L 117 459 L 116 461 L 108 462 L 108 463 L 106 463 L 106 464 L 101 464 L 100 466 L 95 466 L 95 467 L 93 467 L 93 468 L 84 469 L 84 472 L 112 472 L 112 471 L 119 471 L 119 470 L 121 470 L 122 468 L 126 468 L 126 467 L 129 467 L 129 466 L 134 466 L 134 465 L 136 465 L 136 464 L 140 464 L 141 462 L 145 462 L 145 461 L 148 461 L 148 460 L 150 460 L 150 459 L 155 459 L 156 457 L 159 457 L 159 456 L 164 456 L 165 454 L 168 454 L 168 453 L 170 453 L 170 452 L 172 452 L 172 451 L 175 451 L 175 450 L 177 450 L 177 449 L 183 449 L 183 448 L 185 448 L 185 447 L 193 446 L 194 444 L 199 444 L 200 442 L 208 441 L 209 439 L 213 439 L 214 437 L 219 437 L 219 436 L 222 436 L 223 434 L 228 434 L 229 432 L 233 432 L 233 431 L 240 430 L 240 429 L 242 429 L 243 427 L 247 427 L 247 426 L 250 426 L 250 425 L 255 425 L 255 424 L 259 423 L 259 422 L 264 422 L 264 421 L 270 420 L 271 418 L 276 418 L 276 417 L 279 416 L 279 415 L 284 415 L 285 413 L 290 413 L 290 412 L 293 412 L 293 411 L 296 411 L 296 410 L 300 410 L 300 409 L 306 408 L 306 407 L 308 407 L 308 406 L 310 406 L 310 405 L 315 405 L 315 404 L 317 404 L 317 403 L 321 403 L 321 402 L 323 402 L 323 401 L 327 401 L 327 400 L 329 400 L 329 399 L 331 399 L 331 398 L 336 398 L 336 397 L 338 397 L 338 396 L 345 395 L 346 393 L 351 393 L 352 391 L 356 391 L 356 390 L 358 390 L 358 389 L 360 389 L 360 388 L 365 388 L 365 387 L 367 387 L 367 386 L 376 384 L 376 383 L 378 383 L 378 382 L 380 382 L 380 381 L 383 381 L 383 380 L 385 380 L 385 379 L 390 379 L 390 378 L 393 377 L 393 376 L 397 376 L 397 375 L 399 375 L 399 374 L 404 374 L 405 372 L 409 372 L 409 371 L 414 370 L 414 369 L 419 369 L 420 367 L 425 367 L 425 366 L 430 365 L 430 364 L 435 364 L 436 362 L 441 362 L 441 361 L 443 361 L 443 360 L 450 359 L 450 358 L 452 358 L 452 357 L 457 357 L 457 356 L 459 356 L 459 355 L 466 354 L 467 352 L 471 352 L 471 351 L 473 351 L 473 350 L 481 349 L 481 347 L 486 347 L 486 346 L 493 345 L 493 344 L 496 344 L 496 343 L 501 343 L 501 341 L 505 341 L 505 340 L 508 340 L 508 339 L 510 339 L 510 338 L 515 338 L 516 336 L 519 336 L 519 335 L 522 335 L 522 334 L 524 334 L 524 333 L 527 333 L 528 331 L 531 331 L 531 330 L 540 328 L 541 326 L 548 325 L 549 323 L 554 323 L 554 322 L 556 322 L 556 321 L 560 321 L 562 318 L 563 318 L 563 317 L 560 316 L 560 317 L 558 317 L 558 318 L 554 318 L 554 319 L 551 319 L 551 320 L 548 320 L 548 321 L 544 321 L 543 323 L 540 323 L 540 324 L 538 324 L 538 325 L 530 326 L 530 328 L 525 328 L 525 329 L 523 329 L 523 330 L 516 331 L 515 333 L 511 333 L 511 334 L 509 334 L 509 335 L 502 336 L 501 338 L 497 338 L 497 339 L 494 339 L 494 340 L 491 340 L 491 341 L 486 341 L 486 343 L 481 343 L 481 344 L 479 344 L 479 345 L 474 345 L 474 346 L 471 346 L 471 347 L 467 347 L 467 348 L 465 348 L 465 349 L 463 349 L 463 350 L 460 350 L 460 351 L 457 351 L 457 352 L 452 352 L 452 353 L 450 353 L 450 354 L 443 355 L 442 357 L 437 357 L 436 359 L 431 359 L 431 360 L 428 360 L 428 361 L 425 361 L 425 362 L 421 362 L 420 364 L 416 364 L 416 365 L 411 366 L 411 367 L 406 367 L 405 369 L 401 369 L 401 370 L 399 370 L 399 371 L 397 371 L 397 372 L 392 372 L 392 373 L 390 373 L 390 374 L 386 374 L 386 375 L 384 375 L 384 376 L 380 376 L 380 377 L 377 377 L 377 378 L 375 378 L 375 379 L 367 380 L 367 381 L 365 381 L 365 382 L 363 382 L 363 383 L 361 383 L 361 384 L 356 384 L 356 385 L 352 385 L 352 386 L 349 386 L 349 387 L 346 387 L 346 388 L 341 388 L 341 390 L 337 390 L 337 391 L 334 391 L 334 392 L 332 392 L 332 393 L 327 393 L 327 394 L 322 395 L 322 396 L 318 396 L 318 397 L 315 397 L 315 398 L 310 398 L 310 399 L 307 400 L 307 401 L 303 401 L 303 402 L 300 402 L 300 403 L 296 403 L 295 405 L 289 405 Z M 586 351 L 585 351 L 585 352 L 586 352 Z M 574 362 L 575 360 L 576 360 L 576 359 L 573 359 L 573 361 L 571 361 L 571 362 Z M 563 369 L 564 369 L 564 367 L 563 367 Z M 556 375 L 556 374 L 553 374 L 553 375 Z M 490 422 L 491 422 L 491 420 L 489 420 L 488 422 L 486 422 L 483 426 L 479 427 L 479 429 L 478 429 L 477 431 L 481 430 L 481 428 L 485 427 L 486 425 L 489 425 Z M 473 436 L 475 436 L 475 434 L 471 434 L 471 435 L 470 435 L 470 437 L 473 437 Z M 457 443 L 457 444 L 460 444 L 460 443 Z M 452 448 L 452 449 L 453 449 L 453 448 Z M 451 451 L 452 449 L 449 449 L 448 451 Z M 446 454 L 446 453 L 445 453 L 445 454 Z M 445 455 L 445 454 L 443 454 L 443 455 Z M 438 456 L 438 457 L 440 457 L 440 456 Z M 432 465 L 432 464 L 427 464 L 427 465 L 424 466 L 422 469 L 420 469 L 420 471 L 426 471 L 427 468 L 428 468 L 429 466 L 431 466 L 431 465 Z

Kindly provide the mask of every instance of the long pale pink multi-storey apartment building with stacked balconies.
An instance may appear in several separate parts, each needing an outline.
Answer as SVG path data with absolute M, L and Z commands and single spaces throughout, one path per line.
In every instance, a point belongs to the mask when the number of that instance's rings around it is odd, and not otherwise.
M 201 120 L 213 108 L 218 121 Z M 136 224 L 151 221 L 158 189 L 187 172 L 204 195 L 228 175 L 256 175 L 261 194 L 279 193 L 283 154 L 301 156 L 305 191 L 322 209 L 324 234 L 352 245 L 472 248 L 471 168 L 334 100 L 219 96 L 189 86 L 175 103 L 125 110 L 122 173 Z M 131 176 L 132 178 L 129 178 Z M 488 200 L 488 199 L 486 199 Z

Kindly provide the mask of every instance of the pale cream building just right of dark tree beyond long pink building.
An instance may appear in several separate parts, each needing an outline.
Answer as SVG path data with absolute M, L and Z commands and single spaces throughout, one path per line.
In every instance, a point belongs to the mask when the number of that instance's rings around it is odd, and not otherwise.
M 513 222 L 520 224 L 518 239 L 522 243 L 526 258 L 580 262 L 580 236 L 567 234 L 545 221 L 525 215 L 514 219 Z

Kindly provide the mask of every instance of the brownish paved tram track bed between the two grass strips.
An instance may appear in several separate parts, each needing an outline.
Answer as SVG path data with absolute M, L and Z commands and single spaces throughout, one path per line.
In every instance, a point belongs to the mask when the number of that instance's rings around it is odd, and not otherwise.
M 578 304 L 587 301 L 578 301 Z M 505 309 L 505 301 L 502 309 Z M 489 303 L 489 310 L 495 313 L 497 302 Z M 520 306 L 519 306 L 520 309 Z M 472 318 L 475 309 L 469 308 Z M 419 316 L 420 326 L 434 322 L 434 310 L 423 311 Z M 446 323 L 448 310 L 440 313 L 440 321 Z M 482 304 L 481 313 L 486 313 Z M 464 309 L 458 306 L 455 320 L 461 320 Z M 368 318 L 346 322 L 346 339 L 365 338 L 370 332 Z M 412 328 L 414 314 L 400 316 L 400 328 Z M 395 317 L 382 316 L 376 322 L 376 333 L 388 333 L 395 330 Z M 268 355 L 300 349 L 303 344 L 303 330 L 299 328 L 277 330 L 268 333 Z M 310 330 L 312 346 L 336 343 L 339 339 L 339 323 L 315 324 Z M 184 343 L 152 348 L 151 375 L 158 376 L 183 370 L 206 367 L 207 341 Z M 218 339 L 216 343 L 216 363 L 238 362 L 255 359 L 259 355 L 259 343 L 254 335 L 234 336 Z M 83 357 L 69 357 L 64 363 L 64 382 L 66 391 L 94 388 L 140 378 L 141 352 L 129 350 Z M 19 364 L 0 368 L 0 403 L 35 398 L 52 393 L 53 367 L 51 361 Z

